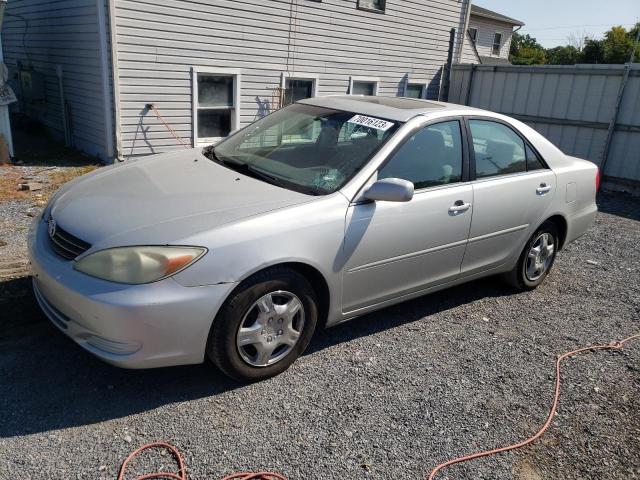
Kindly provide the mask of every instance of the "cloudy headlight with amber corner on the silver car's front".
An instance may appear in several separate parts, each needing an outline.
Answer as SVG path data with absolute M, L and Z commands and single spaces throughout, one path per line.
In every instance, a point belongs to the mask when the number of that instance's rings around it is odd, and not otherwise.
M 111 282 L 150 283 L 187 268 L 206 251 L 202 247 L 110 248 L 87 255 L 74 268 Z

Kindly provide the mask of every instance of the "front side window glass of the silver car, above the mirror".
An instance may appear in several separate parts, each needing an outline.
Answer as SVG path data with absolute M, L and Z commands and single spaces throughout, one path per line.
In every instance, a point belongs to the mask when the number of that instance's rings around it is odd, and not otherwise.
M 459 182 L 462 136 L 457 120 L 436 123 L 415 133 L 378 172 L 378 180 L 401 178 L 420 188 Z

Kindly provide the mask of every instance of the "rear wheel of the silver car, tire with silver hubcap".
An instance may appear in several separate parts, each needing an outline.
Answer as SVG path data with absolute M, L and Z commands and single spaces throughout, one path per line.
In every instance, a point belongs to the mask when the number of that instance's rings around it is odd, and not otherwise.
M 553 222 L 544 222 L 529 238 L 516 266 L 504 278 L 520 291 L 540 285 L 553 267 L 558 252 L 558 229 Z

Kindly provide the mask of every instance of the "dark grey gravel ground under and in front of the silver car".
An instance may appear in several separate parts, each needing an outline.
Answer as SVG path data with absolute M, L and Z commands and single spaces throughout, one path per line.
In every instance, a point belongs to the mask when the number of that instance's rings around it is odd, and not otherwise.
M 45 320 L 28 279 L 4 281 L 0 478 L 114 479 L 131 450 L 160 439 L 184 452 L 192 479 L 263 468 L 421 478 L 528 436 L 546 418 L 557 353 L 640 330 L 640 202 L 599 203 L 536 291 L 488 279 L 388 308 L 321 332 L 290 370 L 248 386 L 209 364 L 107 366 Z M 563 379 L 540 441 L 438 478 L 640 478 L 640 342 L 569 360 Z M 170 456 L 135 466 L 152 465 L 170 468 Z

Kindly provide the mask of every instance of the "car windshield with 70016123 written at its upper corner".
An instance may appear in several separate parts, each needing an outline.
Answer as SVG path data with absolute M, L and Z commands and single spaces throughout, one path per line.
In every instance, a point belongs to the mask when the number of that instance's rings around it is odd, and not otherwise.
M 397 128 L 381 118 L 294 104 L 203 153 L 283 188 L 326 195 L 348 182 Z

